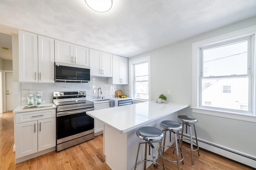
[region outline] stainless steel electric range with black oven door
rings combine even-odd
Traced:
[[[86,100],[85,91],[53,92],[56,105],[57,152],[94,139],[94,119],[86,111],[94,110],[94,103]]]

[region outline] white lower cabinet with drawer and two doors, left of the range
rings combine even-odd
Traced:
[[[50,118],[48,118],[50,117]],[[31,154],[56,146],[56,110],[22,112],[15,115],[16,163],[31,159]],[[43,152],[43,154],[45,154]],[[26,156],[28,156],[26,158]],[[21,158],[17,161],[17,159]]]

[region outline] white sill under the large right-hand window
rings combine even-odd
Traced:
[[[218,110],[198,108],[198,107],[192,107],[192,111],[194,113],[200,113],[200,114],[205,114],[205,115],[212,115],[212,116],[218,116],[218,117],[226,117],[226,118],[230,118],[230,119],[256,122],[255,115],[234,113],[234,112],[228,112],[228,111],[218,111]]]

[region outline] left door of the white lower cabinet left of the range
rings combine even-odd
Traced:
[[[15,124],[16,159],[37,152],[37,121]]]

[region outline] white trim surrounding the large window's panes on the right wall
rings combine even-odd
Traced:
[[[254,77],[252,77],[252,81],[254,84],[254,94],[252,94],[252,103],[253,103],[253,108],[252,108],[252,115],[248,115],[248,114],[243,114],[243,113],[237,113],[237,112],[232,112],[232,111],[222,111],[222,110],[215,110],[215,109],[207,109],[207,108],[201,108],[199,107],[200,103],[199,103],[199,53],[200,53],[200,48],[211,45],[211,44],[215,44],[215,43],[219,43],[222,41],[227,41],[227,40],[232,40],[234,38],[238,38],[238,37],[246,37],[246,36],[250,36],[256,33],[256,25],[252,26],[252,27],[248,27],[245,29],[241,29],[238,31],[234,31],[232,33],[227,33],[224,35],[220,35],[218,37],[213,37],[210,39],[206,39],[203,41],[199,41],[196,43],[192,44],[192,111],[194,113],[201,113],[201,114],[206,114],[206,115],[214,115],[214,116],[219,116],[219,117],[226,117],[226,118],[231,118],[231,119],[238,119],[238,120],[244,120],[244,121],[251,121],[251,122],[256,122],[256,62],[254,61],[256,59],[255,57],[255,51],[253,52],[253,57],[252,57],[252,64],[254,64],[253,68],[254,70],[251,70]],[[256,38],[255,38],[256,39]],[[252,49],[255,49],[255,40],[254,39],[254,47],[252,47]]]

